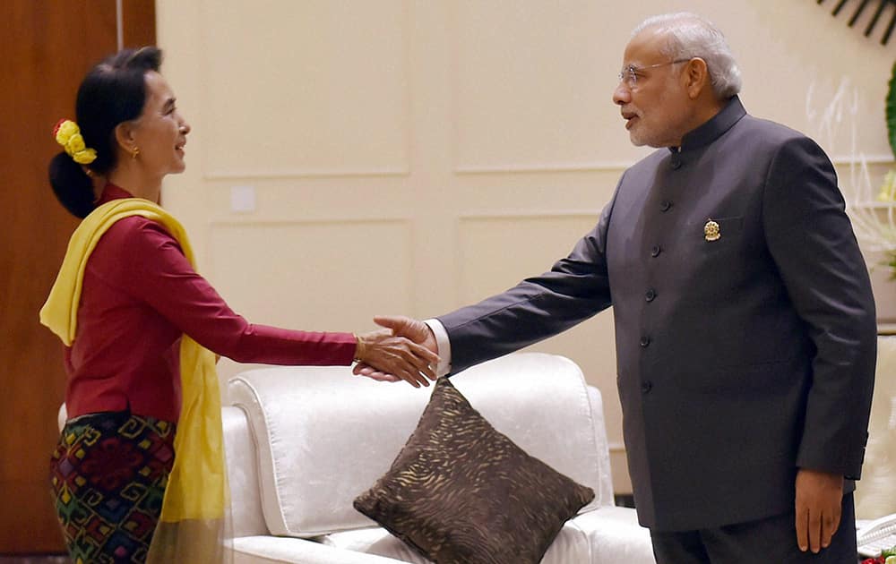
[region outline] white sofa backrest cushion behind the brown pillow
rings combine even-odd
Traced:
[[[607,444],[595,432],[602,424],[592,421],[576,364],[556,355],[507,355],[453,376],[452,383],[521,449],[578,483],[608,491]],[[374,526],[352,500],[389,469],[431,389],[359,378],[349,367],[264,368],[232,378],[229,400],[248,417],[271,534]],[[587,508],[611,503],[607,494]]]

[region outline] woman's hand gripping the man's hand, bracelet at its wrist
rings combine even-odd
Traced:
[[[369,376],[374,380],[405,380],[414,388],[428,386],[429,380],[435,380],[439,363],[438,355],[426,346],[392,335],[390,329],[358,335],[355,359],[381,372]]]

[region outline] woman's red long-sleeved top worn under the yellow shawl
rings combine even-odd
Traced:
[[[99,204],[131,194],[108,184]],[[65,348],[69,417],[120,411],[177,421],[180,337],[241,363],[348,365],[351,333],[249,323],[186,260],[164,226],[140,216],[111,226],[84,272],[78,326]]]

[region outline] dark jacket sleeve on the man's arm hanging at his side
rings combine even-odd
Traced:
[[[782,143],[771,161],[762,218],[772,259],[815,349],[797,466],[857,479],[874,389],[874,295],[837,175],[814,141]]]

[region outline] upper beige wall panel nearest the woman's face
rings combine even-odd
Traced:
[[[407,172],[407,2],[202,8],[208,177]]]

